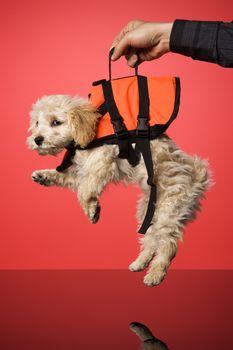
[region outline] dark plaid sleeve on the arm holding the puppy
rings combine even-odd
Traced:
[[[233,22],[176,20],[170,37],[170,51],[233,67]]]

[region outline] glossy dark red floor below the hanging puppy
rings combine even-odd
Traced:
[[[0,271],[0,348],[233,349],[233,271],[168,275],[151,288],[129,271]]]

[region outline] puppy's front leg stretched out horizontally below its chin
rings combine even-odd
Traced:
[[[71,172],[60,173],[56,169],[36,170],[32,173],[32,180],[43,186],[73,186],[73,176]]]

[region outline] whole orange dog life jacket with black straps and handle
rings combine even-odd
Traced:
[[[145,234],[154,215],[156,186],[150,140],[159,137],[176,118],[180,103],[180,80],[177,77],[145,77],[138,74],[118,79],[111,78],[109,54],[109,79],[93,82],[90,102],[102,115],[96,137],[85,148],[71,143],[57,171],[72,164],[75,150],[91,149],[104,144],[118,144],[119,158],[127,159],[135,167],[142,154],[147,169],[147,183],[151,187],[147,212],[139,233]],[[135,147],[132,146],[135,144]]]

